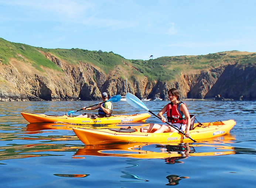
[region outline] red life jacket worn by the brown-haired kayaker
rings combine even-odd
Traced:
[[[181,124],[187,124],[187,120],[185,118],[185,115],[180,110],[180,104],[182,102],[179,102],[177,104],[169,103],[167,105],[167,120],[171,123],[181,123]],[[185,104],[185,103],[183,103]]]

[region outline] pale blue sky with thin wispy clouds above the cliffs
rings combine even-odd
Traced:
[[[0,0],[0,38],[142,60],[256,52],[256,1]]]

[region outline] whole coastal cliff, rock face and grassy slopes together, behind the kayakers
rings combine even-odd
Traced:
[[[30,48],[22,44],[17,46],[23,46],[21,50]],[[11,48],[14,49],[13,46],[8,47],[12,50]],[[212,59],[207,60],[211,66],[198,69],[187,68],[190,65],[187,63],[189,56],[175,57],[175,61],[178,59],[184,64],[178,66],[180,72],[170,70],[168,73],[165,68],[165,73],[172,77],[171,80],[147,77],[149,73],[145,74],[145,70],[136,67],[132,60],[125,60],[113,53],[104,53],[108,56],[106,59],[118,59],[112,60],[112,64],[110,62],[104,65],[102,60],[105,57],[101,54],[102,52],[95,53],[97,58],[99,57],[98,61],[93,57],[91,61],[77,60],[74,62],[56,52],[40,48],[35,48],[33,51],[33,54],[38,53],[37,56],[26,56],[25,52],[13,51],[13,54],[7,58],[3,51],[0,53],[0,101],[99,100],[100,93],[103,91],[109,93],[110,96],[125,95],[126,78],[128,78],[127,91],[140,99],[160,97],[167,100],[168,89],[174,87],[180,90],[183,98],[206,99],[220,95],[235,100],[256,99],[255,53],[243,53],[243,61],[234,58],[233,61],[221,60],[222,63],[217,62],[216,56],[213,56]],[[240,52],[235,51],[235,53]],[[223,54],[219,56],[218,58],[228,57]],[[43,63],[37,64],[41,59]],[[174,61],[174,57],[167,59]],[[245,63],[244,59],[248,62]],[[212,65],[213,61],[216,61],[214,65]],[[150,60],[142,62],[149,64]],[[157,60],[152,62],[157,62]],[[141,65],[140,62],[137,64]],[[151,69],[154,68],[151,67]],[[178,73],[174,75],[172,72]]]

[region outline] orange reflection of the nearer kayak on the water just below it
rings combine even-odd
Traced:
[[[233,137],[227,136],[227,142]],[[223,141],[223,136],[217,140],[208,140],[204,143],[109,143],[101,145],[85,145],[78,149],[73,158],[85,158],[83,156],[115,156],[132,157],[139,159],[164,159],[167,163],[178,163],[179,159],[188,156],[218,156],[235,154],[233,147],[228,145],[216,145]],[[227,143],[226,142],[226,143]],[[200,152],[200,147],[208,147],[209,152]],[[198,150],[196,152],[196,150]],[[214,150],[214,151],[212,151]],[[205,151],[205,149],[204,149]]]

